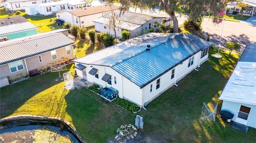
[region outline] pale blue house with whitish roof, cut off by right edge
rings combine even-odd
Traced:
[[[256,43],[246,45],[219,99],[234,122],[256,128]]]

